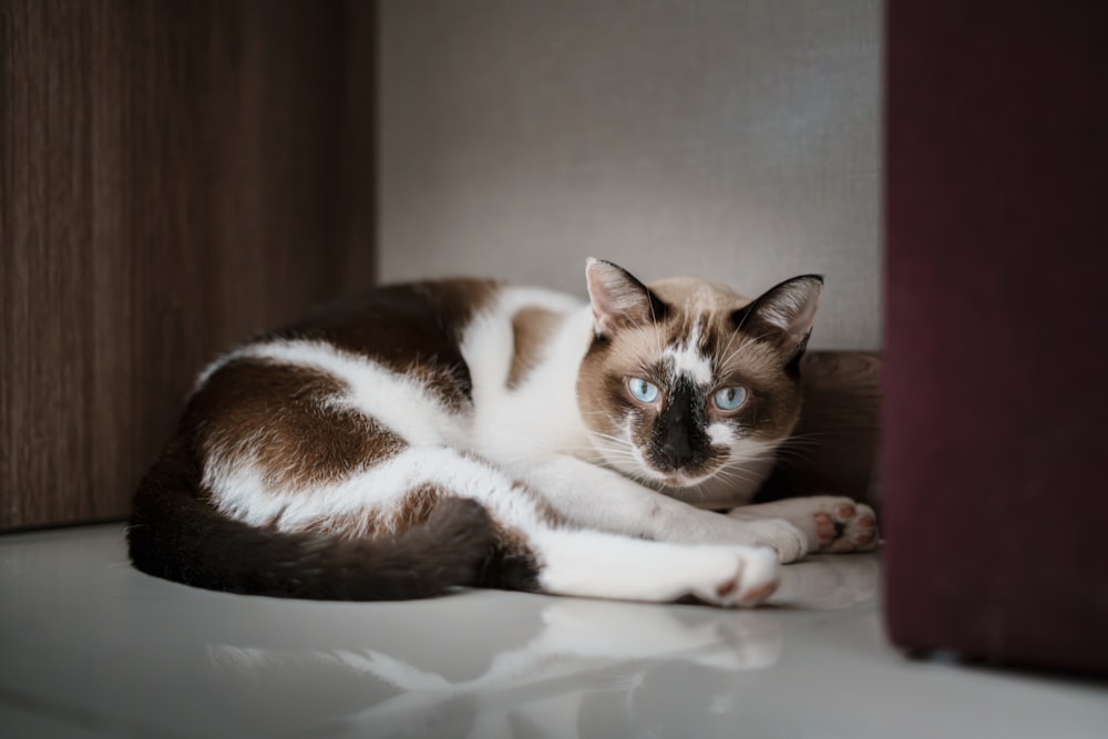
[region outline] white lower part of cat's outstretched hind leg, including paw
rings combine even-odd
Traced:
[[[686,596],[718,606],[752,606],[778,586],[766,547],[652,542],[597,531],[553,528],[529,546],[540,563],[538,589],[619,601],[671,603]]]

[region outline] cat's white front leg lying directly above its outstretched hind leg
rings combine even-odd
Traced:
[[[514,470],[566,520],[584,528],[684,544],[765,546],[780,562],[809,551],[808,535],[782,519],[736,519],[701,511],[623,475],[571,456]]]

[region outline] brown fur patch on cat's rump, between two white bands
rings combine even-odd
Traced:
[[[209,463],[253,461],[273,487],[337,482],[402,451],[404,441],[335,401],[346,390],[330,374],[242,359],[208,378],[189,402]]]

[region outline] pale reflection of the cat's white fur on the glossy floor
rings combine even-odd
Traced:
[[[488,669],[463,680],[443,675],[451,667],[449,650],[444,669],[437,671],[408,659],[404,643],[299,655],[217,645],[209,647],[209,657],[232,682],[255,689],[293,675],[318,685],[321,671],[331,673],[331,682],[368,678],[392,688],[390,697],[342,720],[353,733],[372,728],[382,737],[484,738],[517,736],[520,727],[532,727],[536,736],[574,737],[582,736],[574,727],[586,705],[620,714],[622,725],[632,720],[634,706],[649,705],[642,694],[657,682],[653,673],[658,669],[684,671],[685,681],[694,682],[689,689],[702,696],[702,708],[718,710],[727,700],[718,691],[720,674],[777,661],[781,635],[772,615],[719,616],[704,607],[551,598],[531,639],[492,656]],[[449,636],[437,638],[465,639],[473,628],[484,626],[455,623],[444,627]],[[425,636],[409,635],[414,640]],[[380,689],[370,692],[381,695]]]

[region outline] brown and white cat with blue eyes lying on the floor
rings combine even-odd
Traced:
[[[797,422],[821,278],[756,300],[595,259],[586,278],[587,304],[381,287],[223,356],[135,495],[134,565],[286,597],[733,606],[779,561],[875,545],[848,499],[737,507]]]

